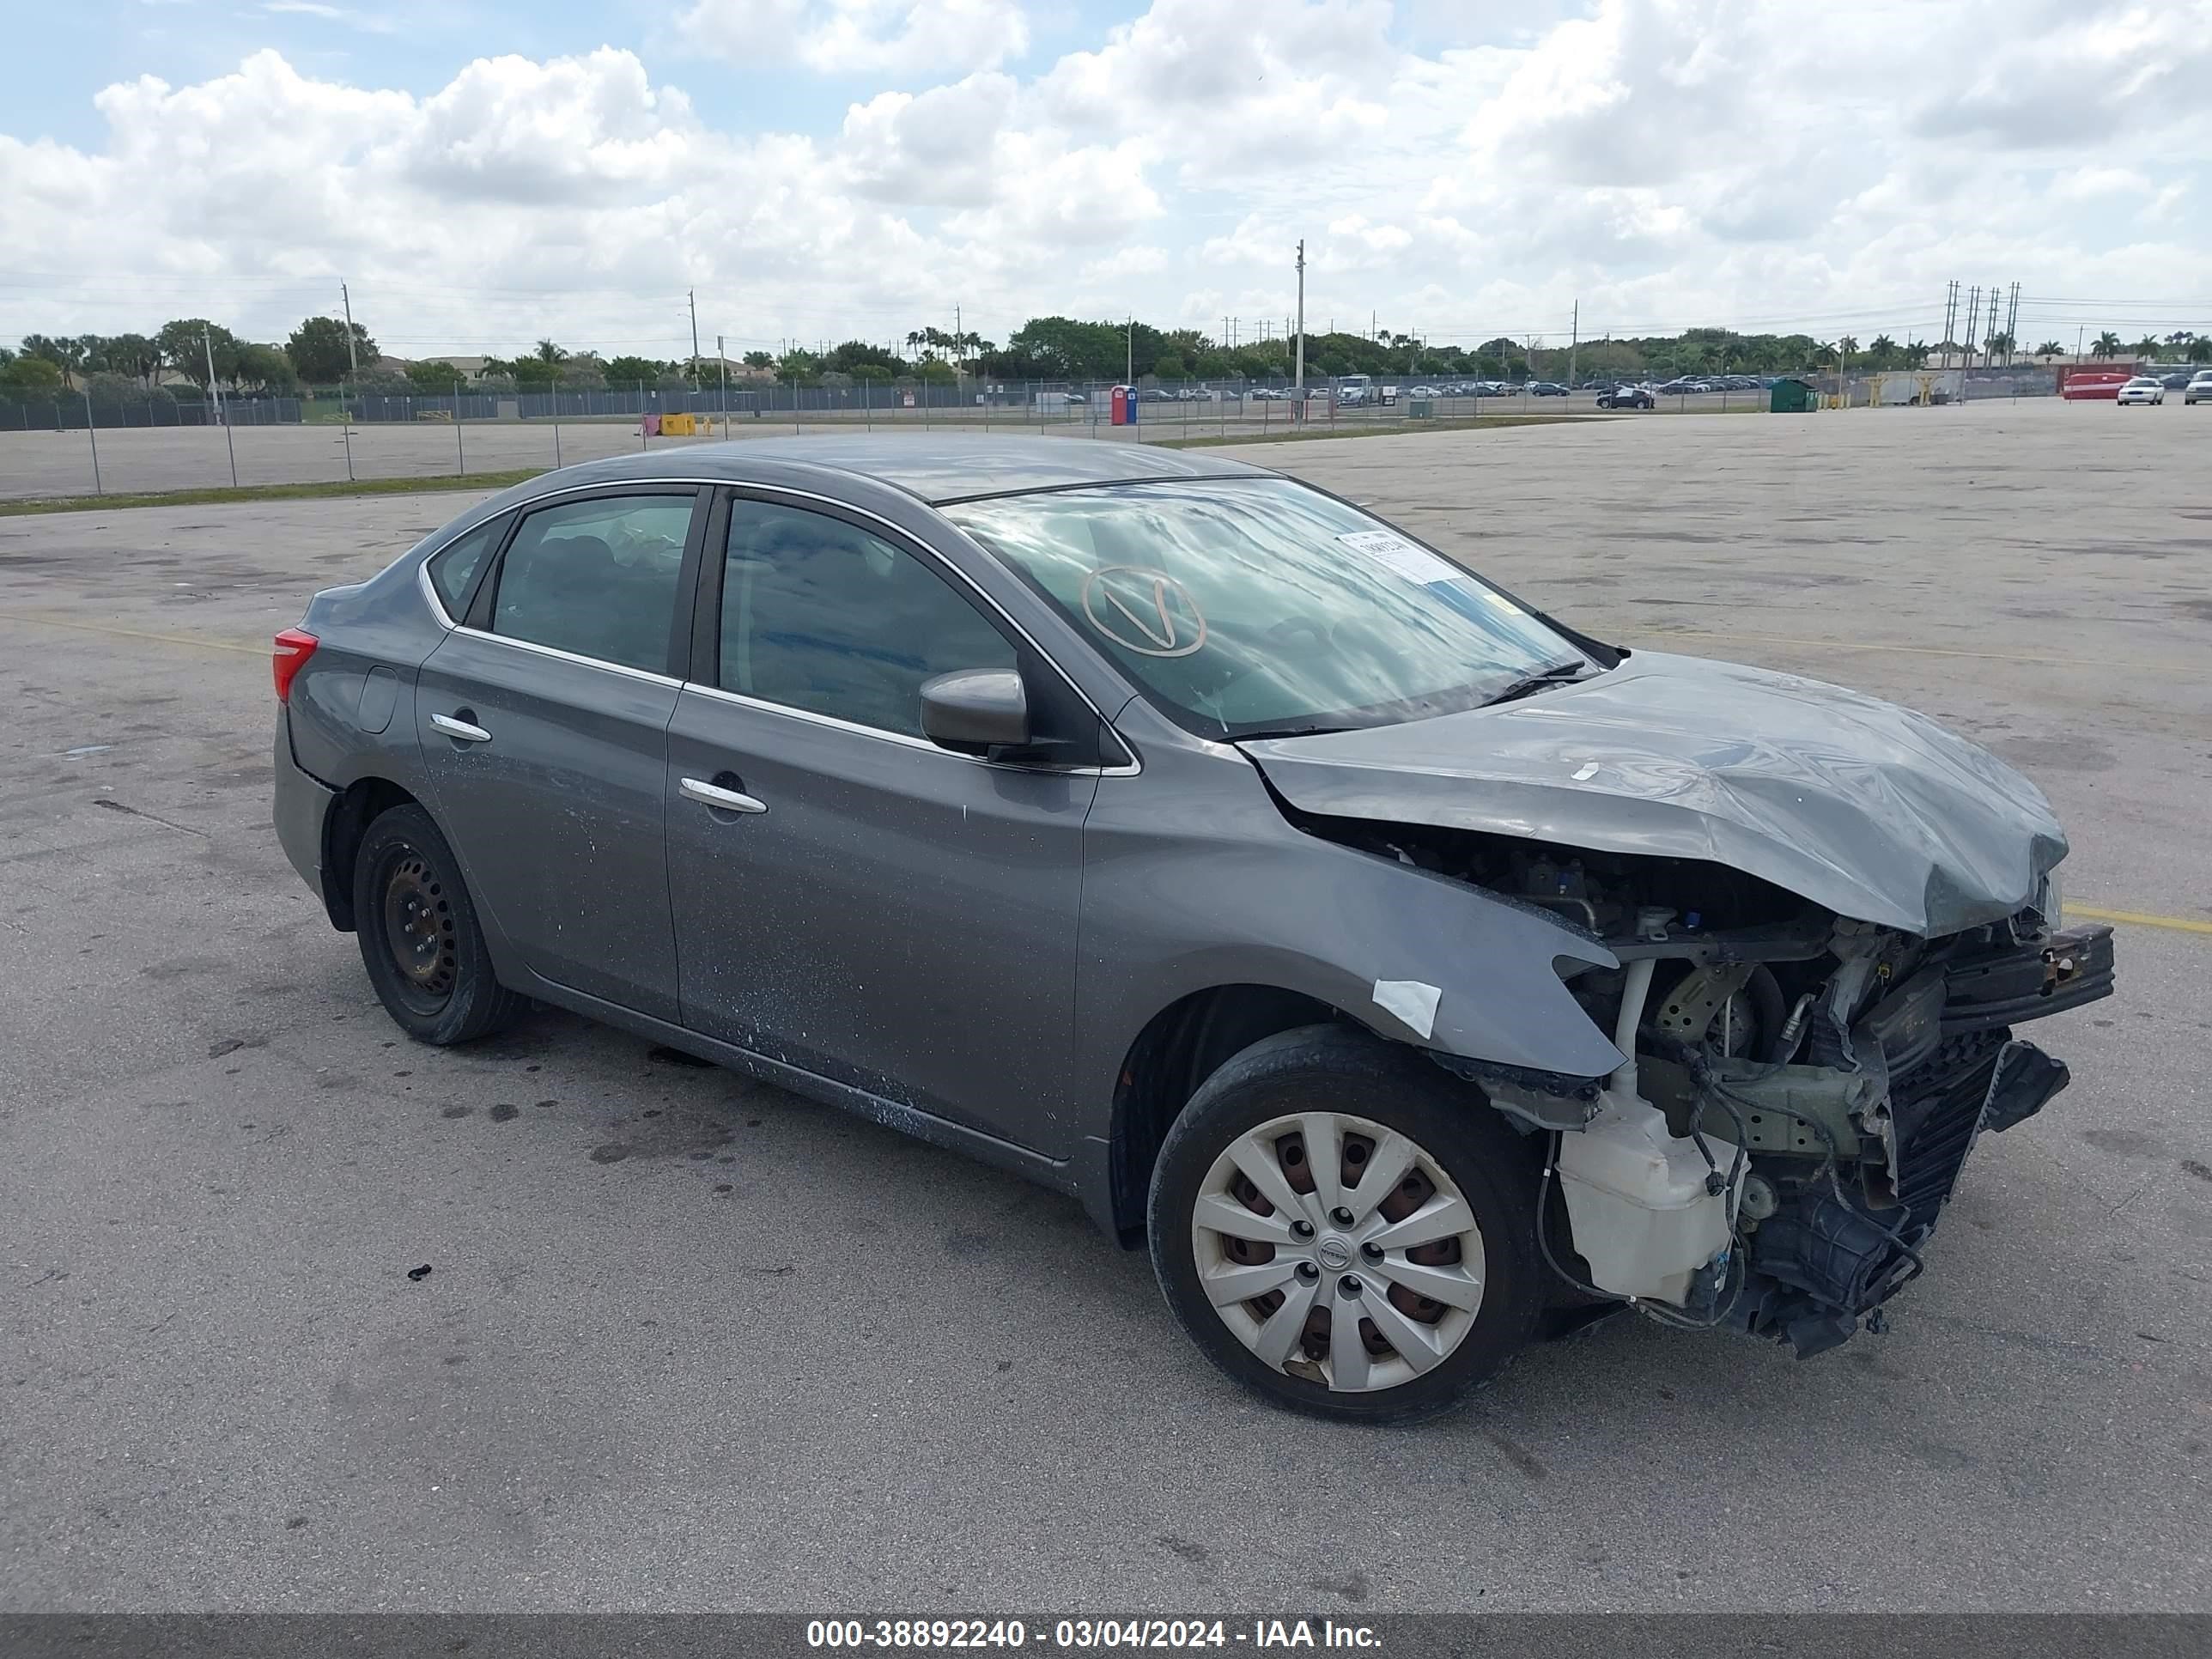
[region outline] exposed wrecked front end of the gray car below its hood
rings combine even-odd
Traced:
[[[1438,1060],[1551,1139],[1540,1243],[1559,1279],[1801,1358],[1878,1325],[1975,1139],[2066,1086],[2013,1026],[2112,991],[2110,929],[2064,929],[2051,880],[2004,920],[1918,938],[1690,858],[1307,827],[1542,907],[1613,951],[1617,969],[1559,964],[1628,1057],[1613,1075]]]

